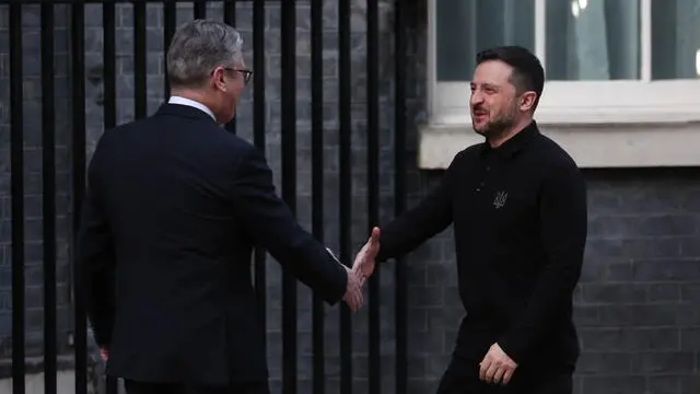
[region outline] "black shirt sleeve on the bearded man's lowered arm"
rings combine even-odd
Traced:
[[[565,316],[581,276],[587,232],[586,190],[574,165],[558,165],[539,197],[540,239],[546,260],[522,316],[499,340],[515,362],[540,343],[555,320]]]

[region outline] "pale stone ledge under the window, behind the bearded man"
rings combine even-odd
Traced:
[[[700,123],[539,126],[582,169],[700,165]],[[470,124],[429,124],[419,139],[423,170],[446,169],[455,154],[483,140]]]

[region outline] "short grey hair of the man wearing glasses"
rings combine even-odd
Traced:
[[[195,20],[175,32],[167,49],[167,79],[174,88],[201,88],[218,66],[243,61],[243,38],[221,22]]]

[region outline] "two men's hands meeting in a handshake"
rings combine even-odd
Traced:
[[[348,287],[342,300],[353,312],[357,312],[362,306],[362,286],[365,279],[374,273],[374,266],[376,265],[375,258],[378,252],[380,228],[373,228],[370,239],[354,256],[352,269],[346,267],[348,271]]]

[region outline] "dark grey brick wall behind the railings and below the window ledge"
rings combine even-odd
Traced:
[[[311,45],[310,9],[300,1],[298,11],[298,212],[310,228],[311,212]],[[324,32],[324,127],[326,162],[326,243],[338,250],[338,20],[336,1],[325,7]],[[393,212],[393,10],[392,2],[381,2],[382,73],[382,216]],[[353,245],[359,247],[368,229],[366,208],[366,74],[365,11],[363,1],[352,2],[352,181]],[[408,154],[409,206],[415,205],[440,179],[440,172],[420,171],[416,166],[417,131],[415,125],[425,120],[425,22],[419,16],[422,4],[408,8],[411,20],[407,62],[409,95]],[[57,11],[59,9],[57,8]],[[162,101],[163,62],[161,7],[149,5],[148,88],[149,113]],[[86,60],[90,76],[100,76],[102,65],[102,12],[89,5],[85,23]],[[252,57],[252,7],[237,5],[237,28],[243,33]],[[9,163],[9,43],[8,9],[0,7],[0,351],[10,356],[10,163]],[[208,15],[222,19],[220,5],[211,4]],[[191,7],[183,7],[178,20],[192,18]],[[57,95],[67,97],[69,16],[58,12],[55,58]],[[40,234],[40,80],[38,78],[38,8],[26,7],[24,14],[25,54],[25,154],[27,207],[27,349],[40,355],[42,339],[42,234]],[[133,114],[132,15],[129,5],[118,7],[117,14],[117,95],[118,121]],[[267,119],[266,153],[280,175],[280,13],[278,4],[268,5],[266,15]],[[75,77],[73,77],[75,78]],[[80,76],[79,78],[84,78]],[[62,88],[59,88],[62,86]],[[88,82],[89,152],[103,131],[101,81]],[[240,108],[238,134],[252,139],[252,92]],[[70,135],[65,115],[68,100],[58,100],[59,126],[57,150],[59,163],[59,316],[61,340],[67,346],[70,329],[69,266],[67,240],[69,221],[69,159],[66,141]],[[466,130],[465,132],[468,132]],[[590,241],[583,277],[575,294],[576,322],[583,355],[579,363],[579,393],[695,393],[700,390],[700,182],[697,170],[602,170],[586,171],[590,188]],[[409,389],[411,393],[430,393],[446,367],[455,333],[464,314],[455,282],[454,245],[451,231],[436,236],[416,251],[406,262],[409,270]],[[268,264],[269,360],[273,392],[281,378],[281,281],[278,265]],[[394,263],[382,271],[382,374],[383,385],[393,392],[394,381]],[[311,385],[311,293],[299,288],[300,392]],[[326,369],[329,392],[337,392],[339,381],[338,309],[327,309]],[[353,317],[354,392],[366,387],[368,316],[366,309]]]

